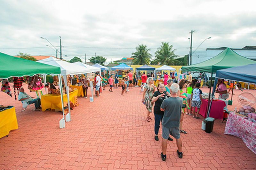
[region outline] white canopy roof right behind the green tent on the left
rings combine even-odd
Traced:
[[[74,74],[84,74],[88,73],[88,69],[85,67],[77,65],[74,67],[73,64],[62,61],[60,59],[49,57],[43,60],[37,61],[38,63],[44,63],[56,67],[60,67],[61,75],[74,75]]]

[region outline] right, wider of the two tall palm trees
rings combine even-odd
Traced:
[[[162,42],[160,48],[155,52],[156,59],[153,61],[154,64],[160,65],[175,65],[178,60],[175,58],[179,57],[179,55],[175,55],[175,49],[172,49],[172,45],[169,45],[169,42]]]

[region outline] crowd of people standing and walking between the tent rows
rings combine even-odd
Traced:
[[[129,89],[138,87],[138,79],[141,79],[140,94],[142,93],[142,103],[147,109],[146,121],[152,121],[150,114],[154,113],[155,119],[155,137],[156,141],[159,140],[158,132],[160,123],[162,122],[162,153],[161,158],[163,161],[166,160],[166,148],[167,140],[172,141],[170,137],[176,139],[178,147],[177,154],[179,158],[182,158],[182,144],[180,139],[180,133],[187,134],[188,132],[183,129],[182,124],[184,120],[184,114],[192,115],[193,118],[199,119],[199,111],[202,105],[202,90],[200,89],[201,84],[197,79],[192,79],[192,75],[188,73],[188,79],[181,79],[179,83],[174,83],[172,76],[168,75],[167,72],[163,74],[164,81],[159,82],[156,86],[154,85],[154,75],[146,75],[145,72],[137,75],[129,70],[127,71],[121,80],[116,72],[115,77],[111,75],[107,80],[105,76],[100,77],[99,73],[95,76],[95,89],[96,96],[99,97],[100,82],[102,82],[103,90],[107,83],[109,83],[109,92],[113,92],[120,85],[122,87],[121,95],[129,92]],[[219,98],[227,99],[228,92],[226,85],[223,83],[224,80],[219,79],[216,93],[219,93]],[[87,93],[85,80],[83,80],[83,88]],[[85,95],[86,96],[86,95]],[[153,109],[152,109],[153,107]],[[197,111],[195,111],[197,108]]]

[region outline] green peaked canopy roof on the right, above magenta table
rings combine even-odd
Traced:
[[[216,73],[217,70],[243,66],[251,63],[256,63],[256,61],[238,55],[232,49],[226,48],[220,54],[209,60],[190,66],[183,66],[182,71],[202,71],[208,73]]]

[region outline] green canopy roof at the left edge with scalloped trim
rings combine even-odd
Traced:
[[[0,78],[60,74],[60,67],[37,63],[0,52]]]

